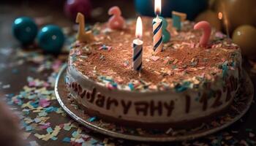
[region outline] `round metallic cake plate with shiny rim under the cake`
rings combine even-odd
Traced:
[[[118,126],[114,123],[106,123],[103,120],[90,117],[85,114],[83,110],[80,110],[78,104],[75,103],[65,85],[65,74],[67,65],[64,65],[56,79],[55,94],[59,101],[59,104],[67,114],[78,121],[78,123],[90,128],[93,131],[97,131],[101,134],[108,135],[110,137],[116,137],[121,139],[129,139],[135,141],[145,142],[171,142],[171,141],[183,141],[191,140],[199,137],[204,137],[208,134],[220,131],[227,126],[235,123],[239,120],[252,103],[254,88],[249,75],[244,71],[244,79],[242,82],[241,90],[239,89],[236,97],[231,104],[229,110],[225,115],[219,116],[211,123],[202,123],[201,126],[180,129],[174,131],[172,128],[166,130],[152,130],[143,128],[130,128],[125,126]]]

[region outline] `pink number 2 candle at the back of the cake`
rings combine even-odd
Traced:
[[[108,27],[111,29],[122,29],[124,28],[124,18],[121,17],[121,9],[117,6],[111,7],[108,10],[108,15],[113,15],[108,20]]]

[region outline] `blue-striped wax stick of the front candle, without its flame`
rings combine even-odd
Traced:
[[[133,51],[132,51],[132,68],[134,71],[139,72],[142,68],[143,58],[143,41],[140,39],[133,40]]]

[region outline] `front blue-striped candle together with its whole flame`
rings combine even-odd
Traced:
[[[136,23],[136,37],[137,39],[133,40],[133,51],[132,51],[132,68],[135,71],[140,71],[142,68],[142,58],[143,58],[143,41],[142,34],[142,20],[140,17],[137,19]]]

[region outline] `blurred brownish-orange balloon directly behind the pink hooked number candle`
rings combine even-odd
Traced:
[[[195,18],[195,22],[200,22],[202,20],[206,20],[213,28],[216,28],[217,31],[222,30],[222,23],[221,20],[218,19],[217,12],[208,9]]]

